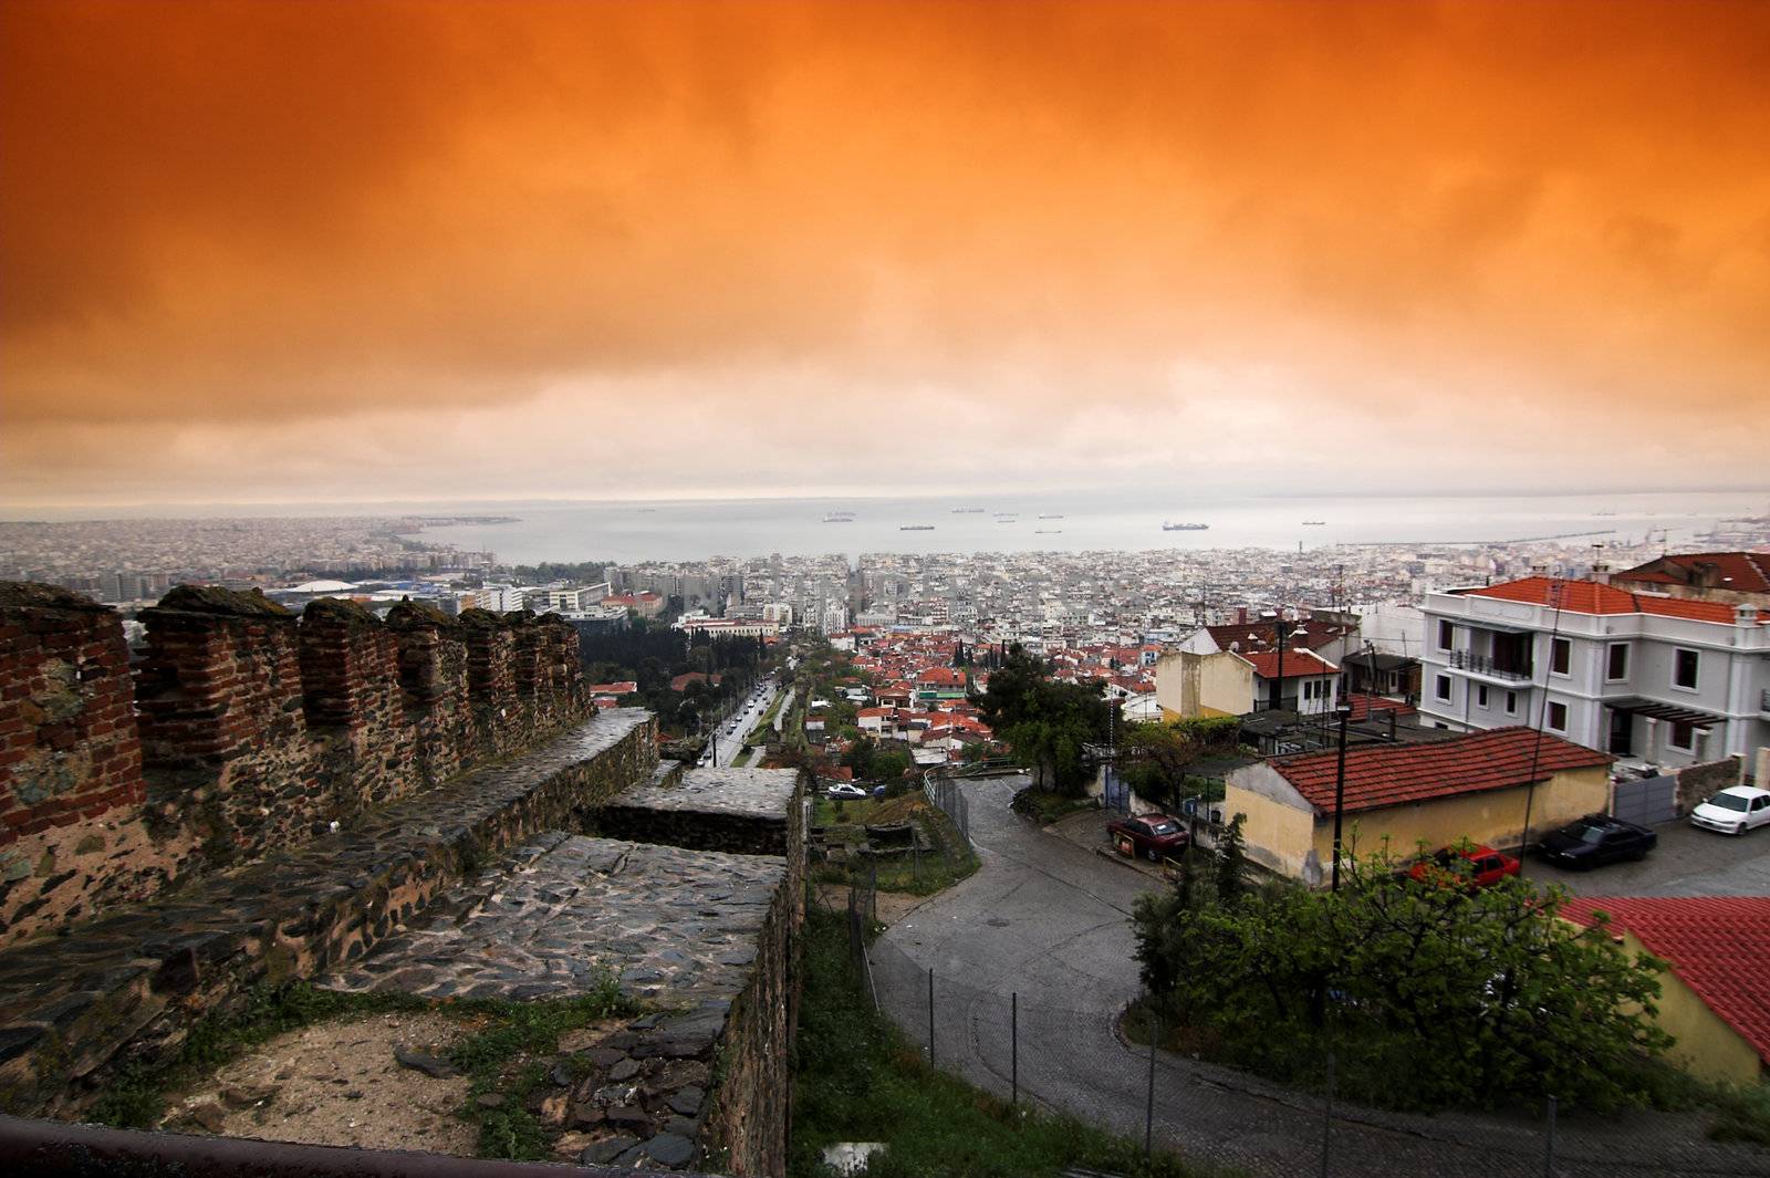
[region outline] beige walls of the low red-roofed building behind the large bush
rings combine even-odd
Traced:
[[[1306,884],[1320,884],[1333,861],[1333,814],[1315,814],[1276,769],[1253,764],[1228,776],[1225,815],[1246,814],[1243,833],[1248,856]],[[1388,840],[1389,854],[1412,858],[1423,842],[1428,849],[1458,838],[1494,847],[1517,847],[1524,830],[1528,791],[1490,789],[1414,805],[1358,810],[1345,815],[1343,838],[1349,851],[1370,854]],[[1531,831],[1572,822],[1609,803],[1609,776],[1604,766],[1556,773],[1536,787],[1531,803]],[[1301,819],[1301,821],[1299,821]]]

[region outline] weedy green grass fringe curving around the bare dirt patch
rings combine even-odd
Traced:
[[[228,1014],[196,1022],[177,1054],[158,1063],[131,1063],[106,1086],[92,1118],[117,1128],[152,1128],[166,1111],[168,1093],[186,1088],[278,1035],[315,1022],[361,1019],[389,1012],[432,1012],[458,1019],[471,1033],[448,1049],[450,1063],[467,1075],[467,1102],[460,1116],[480,1123],[480,1157],[540,1160],[550,1134],[529,1113],[531,1093],[547,1081],[554,1061],[542,1063],[566,1031],[602,1019],[639,1014],[639,1005],[605,978],[589,994],[552,1001],[503,999],[432,1001],[412,994],[342,994],[306,982],[258,985]],[[579,1067],[577,1056],[563,1059]],[[496,1093],[499,1107],[480,1107]]]

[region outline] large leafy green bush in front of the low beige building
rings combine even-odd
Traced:
[[[1559,890],[1395,868],[1356,860],[1336,893],[1273,886],[1225,902],[1220,876],[1216,895],[1145,899],[1133,916],[1143,985],[1258,1072],[1315,1079],[1333,1049],[1354,1098],[1556,1095],[1611,1109],[1646,1097],[1637,1065],[1671,1042],[1651,1021],[1662,962],[1627,953],[1602,923],[1561,920]]]

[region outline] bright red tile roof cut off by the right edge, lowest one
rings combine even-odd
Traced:
[[[1582,925],[1609,913],[1770,1063],[1770,897],[1570,899]]]

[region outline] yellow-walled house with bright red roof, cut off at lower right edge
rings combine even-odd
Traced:
[[[1708,1081],[1756,1084],[1770,1068],[1770,897],[1574,899],[1568,920],[1611,930],[1630,952],[1671,964],[1657,1022],[1678,1042],[1671,1058]]]

